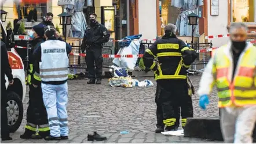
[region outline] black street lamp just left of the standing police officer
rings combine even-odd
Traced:
[[[58,17],[60,17],[60,25],[62,25],[62,27],[64,28],[64,36],[66,41],[67,25],[71,25],[72,14],[64,12],[64,13],[58,14]]]

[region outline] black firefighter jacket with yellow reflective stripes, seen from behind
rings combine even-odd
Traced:
[[[158,67],[154,59],[160,63]],[[175,36],[164,35],[145,50],[145,67],[155,71],[155,79],[186,79],[186,69],[196,59],[196,52]]]

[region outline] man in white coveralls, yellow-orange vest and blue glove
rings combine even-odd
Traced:
[[[206,109],[214,84],[218,90],[225,143],[253,143],[256,122],[256,47],[246,43],[247,26],[230,26],[229,43],[215,50],[200,81],[199,105]]]

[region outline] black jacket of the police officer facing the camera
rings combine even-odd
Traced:
[[[110,34],[104,25],[96,22],[95,25],[87,26],[85,30],[85,36],[83,36],[83,42],[81,45],[82,51],[85,51],[87,46],[94,46],[102,48],[102,44],[107,43]]]

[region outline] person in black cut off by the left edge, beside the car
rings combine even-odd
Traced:
[[[8,52],[6,50],[6,45],[1,40],[1,138],[2,141],[10,141],[10,131],[8,128],[8,117],[7,117],[7,90],[5,75],[8,77],[9,85],[13,85],[13,75],[12,69],[9,65]]]

